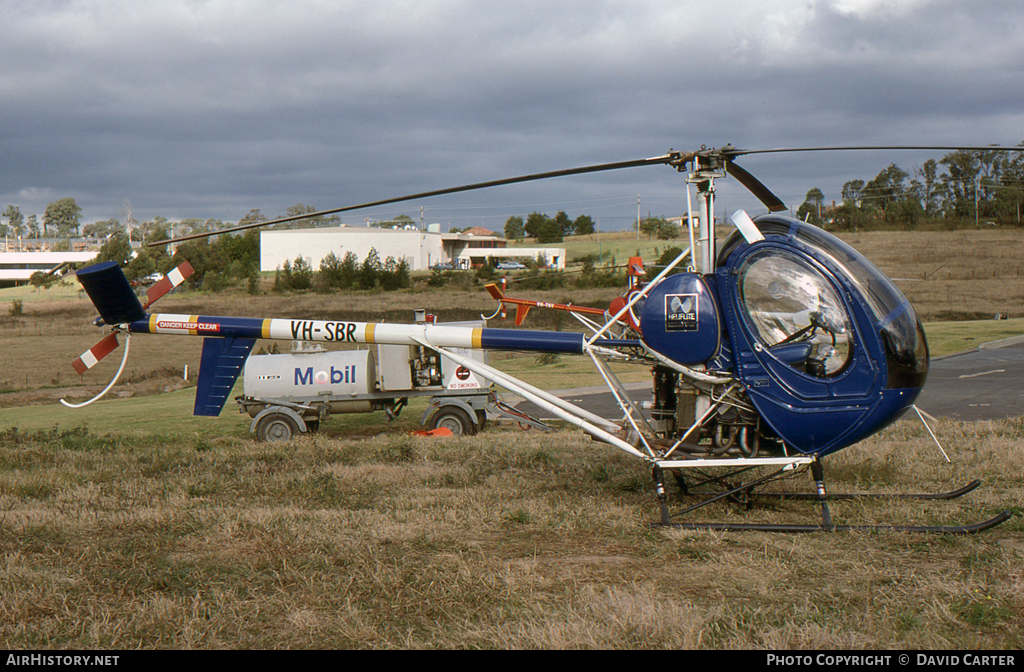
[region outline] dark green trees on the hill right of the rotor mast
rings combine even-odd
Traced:
[[[835,208],[814,187],[797,211],[801,219],[840,229],[989,220],[1020,225],[1022,215],[1024,153],[988,150],[951,152],[912,173],[890,164],[870,180],[846,182]]]

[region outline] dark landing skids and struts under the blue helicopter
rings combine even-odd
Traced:
[[[664,464],[664,463],[663,463]],[[660,520],[651,523],[653,528],[671,528],[674,530],[712,530],[717,532],[784,532],[784,533],[806,533],[806,532],[910,532],[930,533],[946,535],[973,535],[979,532],[990,530],[1011,517],[1013,513],[1002,511],[998,515],[987,520],[975,523],[956,526],[909,526],[909,524],[835,524],[831,519],[831,512],[828,509],[829,501],[855,500],[855,499],[916,499],[916,500],[951,500],[963,497],[967,493],[975,490],[981,485],[980,480],[972,480],[967,486],[957,490],[935,494],[909,494],[909,495],[885,495],[885,494],[863,494],[863,495],[829,495],[824,486],[824,472],[819,460],[810,461],[811,473],[815,481],[816,493],[779,493],[765,494],[759,493],[759,497],[771,497],[773,499],[795,499],[813,500],[821,504],[821,522],[818,524],[786,524],[786,523],[745,523],[745,522],[676,522],[673,517],[679,517],[708,506],[721,499],[736,499],[741,496],[748,502],[754,488],[767,484],[775,478],[779,478],[786,471],[793,469],[793,465],[783,466],[781,469],[773,471],[765,476],[741,484],[725,492],[709,497],[703,501],[690,507],[678,511],[675,514],[669,512],[668,498],[665,494],[664,470],[662,466],[655,466],[653,471],[654,482],[658,495],[658,505],[660,508]]]

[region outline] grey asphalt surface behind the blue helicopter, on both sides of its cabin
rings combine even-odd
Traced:
[[[627,388],[637,402],[650,400],[650,383],[630,383]],[[605,387],[552,392],[602,417],[622,418]],[[520,402],[516,408],[536,418],[551,417],[528,402]],[[935,417],[956,420],[998,420],[1024,415],[1024,337],[932,360],[918,408]]]

